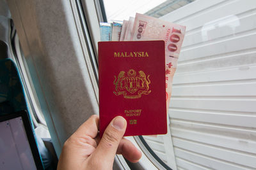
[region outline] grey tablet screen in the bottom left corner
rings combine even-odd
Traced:
[[[0,122],[0,169],[36,169],[22,117]]]

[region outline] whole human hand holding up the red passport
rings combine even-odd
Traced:
[[[93,115],[64,143],[57,169],[113,169],[116,153],[138,162],[141,152],[123,138],[126,126],[123,117],[115,117],[100,139],[99,116]]]

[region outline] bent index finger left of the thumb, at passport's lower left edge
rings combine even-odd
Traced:
[[[91,138],[96,138],[99,131],[99,116],[92,115],[86,122],[84,122],[74,135],[76,136],[90,136]]]

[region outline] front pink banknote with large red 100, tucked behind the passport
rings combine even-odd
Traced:
[[[169,106],[172,94],[173,74],[176,71],[180,48],[186,27],[166,22],[154,17],[136,13],[131,31],[131,41],[164,40],[165,42],[165,74],[166,74],[166,106]]]

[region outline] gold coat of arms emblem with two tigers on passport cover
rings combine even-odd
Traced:
[[[149,75],[147,76],[143,71],[138,71],[138,75],[134,69],[129,69],[127,76],[125,71],[120,71],[117,78],[114,80],[116,96],[124,95],[125,99],[138,99],[142,94],[148,95],[149,90]]]

